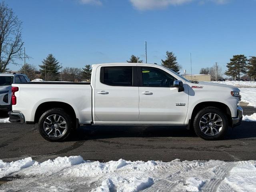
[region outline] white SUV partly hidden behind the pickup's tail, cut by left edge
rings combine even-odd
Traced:
[[[12,110],[12,84],[30,82],[24,74],[0,73],[0,110],[8,112]]]

